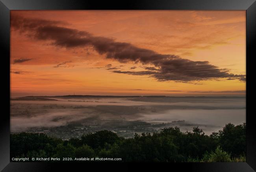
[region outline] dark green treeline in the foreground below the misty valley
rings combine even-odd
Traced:
[[[194,127],[181,132],[178,127],[125,139],[103,130],[63,141],[45,134],[11,134],[10,157],[109,157],[123,162],[244,162],[246,124],[226,124],[223,130],[205,135]],[[12,161],[12,160],[11,160]]]

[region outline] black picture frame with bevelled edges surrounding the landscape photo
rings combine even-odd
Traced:
[[[2,92],[5,103],[2,108],[0,125],[0,170],[3,171],[48,171],[60,167],[73,169],[74,163],[10,163],[10,10],[246,10],[246,123],[247,123],[247,155],[246,163],[161,163],[170,169],[211,172],[253,172],[256,170],[256,125],[254,124],[253,75],[249,64],[255,64],[254,46],[256,35],[256,2],[255,0],[129,0],[129,1],[99,1],[99,0],[0,0],[0,44],[2,48]],[[249,84],[250,83],[250,84]],[[8,88],[9,87],[9,88]],[[72,165],[71,165],[72,164]],[[144,164],[144,163],[143,163]],[[88,165],[88,164],[87,164]],[[80,163],[75,166],[83,166]],[[94,168],[112,168],[113,164],[97,165]],[[120,164],[119,164],[120,165]],[[123,163],[125,168],[132,165]],[[147,164],[147,167],[152,163]],[[155,165],[155,164],[154,164]],[[144,166],[145,167],[145,166]]]

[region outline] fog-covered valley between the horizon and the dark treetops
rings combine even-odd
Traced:
[[[39,96],[11,99],[11,132],[69,139],[111,130],[124,137],[179,126],[206,134],[245,122],[245,97]]]

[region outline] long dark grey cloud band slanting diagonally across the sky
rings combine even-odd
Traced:
[[[158,81],[202,81],[220,78],[245,81],[245,75],[235,75],[208,61],[192,61],[177,55],[159,54],[150,49],[138,48],[130,43],[117,42],[113,38],[96,37],[86,31],[59,26],[63,22],[11,16],[11,27],[26,31],[37,40],[48,40],[52,45],[64,48],[91,47],[100,55],[119,62],[141,62],[153,65],[157,71],[112,71],[129,75],[150,75]]]

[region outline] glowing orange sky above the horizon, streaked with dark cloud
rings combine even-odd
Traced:
[[[11,26],[12,96],[245,95],[246,82],[239,80],[246,74],[245,11],[11,11],[11,22],[20,18],[22,22]],[[76,35],[63,32],[62,38],[56,36],[62,34],[59,31],[39,30],[46,26],[71,29]],[[79,35],[80,31],[89,36]],[[63,43],[72,38],[81,42],[84,37],[93,42],[99,38],[108,47],[128,43],[124,49],[128,56],[120,60],[115,51],[115,57],[106,58],[107,53],[97,50],[102,46],[98,42]],[[164,62],[131,60],[139,57],[129,56],[130,52],[143,49]],[[165,55],[180,60],[168,66]],[[198,61],[208,63],[200,66]],[[147,67],[158,71],[136,74],[151,71]]]

